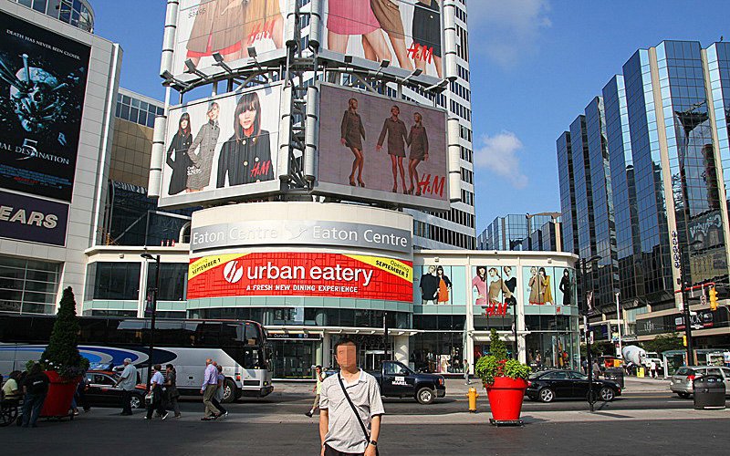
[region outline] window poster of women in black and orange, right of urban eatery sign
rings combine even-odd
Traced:
[[[424,264],[414,268],[413,304],[415,305],[466,305],[464,290],[466,268]]]

